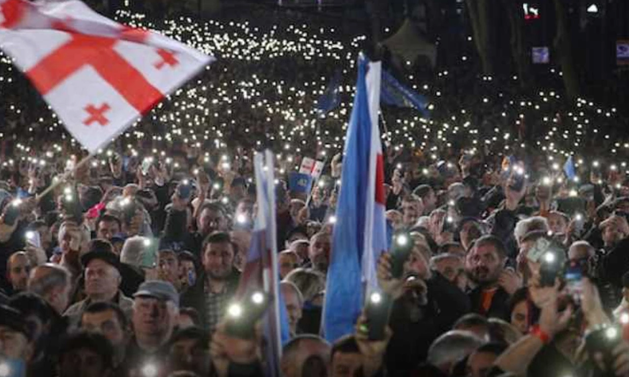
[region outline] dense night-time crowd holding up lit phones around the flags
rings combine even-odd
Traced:
[[[218,61],[87,163],[3,60],[0,376],[262,375],[259,332],[231,331],[226,311],[257,211],[252,150],[265,147],[277,153],[283,376],[629,374],[625,120],[559,89],[520,94],[517,77],[470,76],[471,44],[433,77],[387,67],[433,114],[382,108],[388,326],[370,338],[365,309],[355,334],[319,336],[365,35],[283,15],[120,11]],[[321,116],[335,70],[342,101]],[[304,157],[325,161],[305,192],[287,184]]]

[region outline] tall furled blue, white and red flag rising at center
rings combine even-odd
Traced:
[[[364,297],[378,289],[376,260],[387,250],[384,160],[378,128],[381,63],[359,57],[323,307],[323,336],[353,333]]]

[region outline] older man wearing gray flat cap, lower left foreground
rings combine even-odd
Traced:
[[[168,343],[179,315],[179,293],[167,281],[145,281],[133,297],[133,338],[123,363],[129,375],[138,373],[147,363],[165,368]]]

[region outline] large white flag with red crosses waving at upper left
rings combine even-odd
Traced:
[[[0,0],[0,48],[91,153],[214,60],[79,0]]]

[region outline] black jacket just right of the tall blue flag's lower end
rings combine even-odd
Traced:
[[[439,273],[426,281],[426,286],[427,305],[415,305],[406,296],[393,303],[389,319],[393,336],[385,354],[391,376],[406,376],[415,370],[426,359],[430,344],[470,310],[467,295]]]

